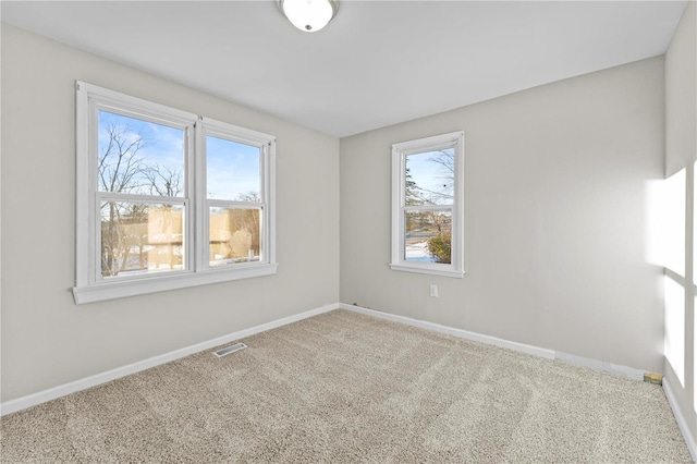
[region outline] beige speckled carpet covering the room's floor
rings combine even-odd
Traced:
[[[335,310],[2,418],[3,463],[689,463],[660,387]]]

